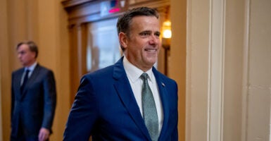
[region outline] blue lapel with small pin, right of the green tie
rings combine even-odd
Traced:
[[[165,135],[165,133],[167,132],[167,128],[168,128],[168,120],[169,120],[169,103],[168,103],[168,91],[167,91],[167,86],[165,85],[165,83],[163,82],[163,80],[160,77],[160,74],[158,73],[158,71],[156,70],[156,68],[153,68],[153,74],[156,77],[156,82],[158,85],[158,91],[160,94],[160,99],[163,105],[163,126],[160,132],[160,139],[163,139],[163,136]]]

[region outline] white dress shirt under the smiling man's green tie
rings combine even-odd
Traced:
[[[144,73],[144,71],[141,71],[139,68],[137,68],[132,63],[130,63],[125,56],[123,59],[123,66],[127,74],[128,80],[130,82],[130,85],[132,87],[132,91],[134,92],[134,97],[137,100],[137,105],[139,106],[141,116],[143,117],[142,102],[141,102],[142,101],[141,90],[142,90],[143,80],[141,80],[140,75]],[[156,78],[153,75],[152,69],[150,69],[149,71],[146,71],[145,73],[149,75],[148,83],[151,88],[151,92],[153,93],[154,102],[156,102],[156,109],[157,109],[158,121],[159,121],[159,133],[160,133],[160,130],[163,125],[163,106],[160,101],[158,86],[156,83]]]

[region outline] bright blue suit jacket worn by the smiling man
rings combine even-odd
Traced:
[[[75,96],[65,141],[151,140],[132,87],[120,59],[84,75]],[[163,104],[163,127],[159,140],[178,140],[177,83],[153,68]]]

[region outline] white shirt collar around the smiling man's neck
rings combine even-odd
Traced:
[[[130,78],[132,82],[135,82],[137,79],[139,79],[140,75],[144,73],[144,71],[141,71],[139,68],[130,63],[126,56],[124,56],[123,59],[123,66],[125,68],[125,72],[127,73],[127,77]],[[145,73],[149,75],[149,80],[152,81],[154,77],[152,69],[149,69]]]

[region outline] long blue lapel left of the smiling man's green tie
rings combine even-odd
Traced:
[[[118,92],[120,99],[122,100],[130,116],[132,117],[134,123],[136,123],[136,125],[141,130],[141,133],[143,133],[146,138],[150,139],[148,130],[141,116],[139,106],[137,105],[134,93],[132,92],[132,87],[130,86],[130,82],[125,73],[122,60],[123,57],[117,63],[115,63],[115,67],[113,70],[113,78],[115,79],[115,90]]]

